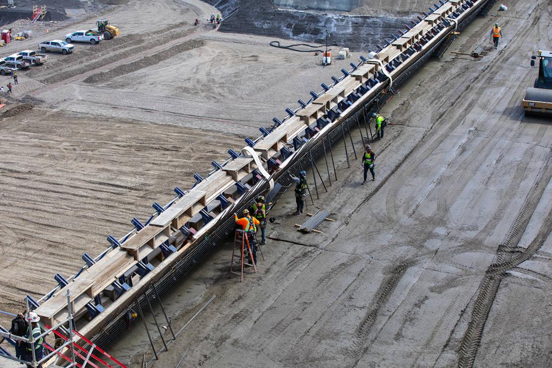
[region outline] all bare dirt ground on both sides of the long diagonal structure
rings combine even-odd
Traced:
[[[163,296],[175,329],[216,298],[153,366],[184,353],[191,367],[550,366],[552,128],[524,118],[520,102],[536,75],[530,55],[550,45],[552,8],[496,9],[449,50],[485,45],[486,56],[447,52],[385,105],[375,182],[360,185],[351,147],[351,168],[335,147],[338,180],[308,208],[337,220],[323,234],[295,231],[305,217],[290,215],[288,193],[258,274],[229,279],[227,244]],[[108,234],[122,236],[349,63],[321,67],[269,47],[273,37],[193,26],[213,12],[198,0],[131,0],[104,14],[118,38],[19,73],[7,102],[34,107],[0,117],[0,310],[49,291],[55,273],[71,275],[82,253],[103,250]],[[97,16],[37,28],[2,55]],[[139,321],[108,350],[132,367],[152,356]]]

